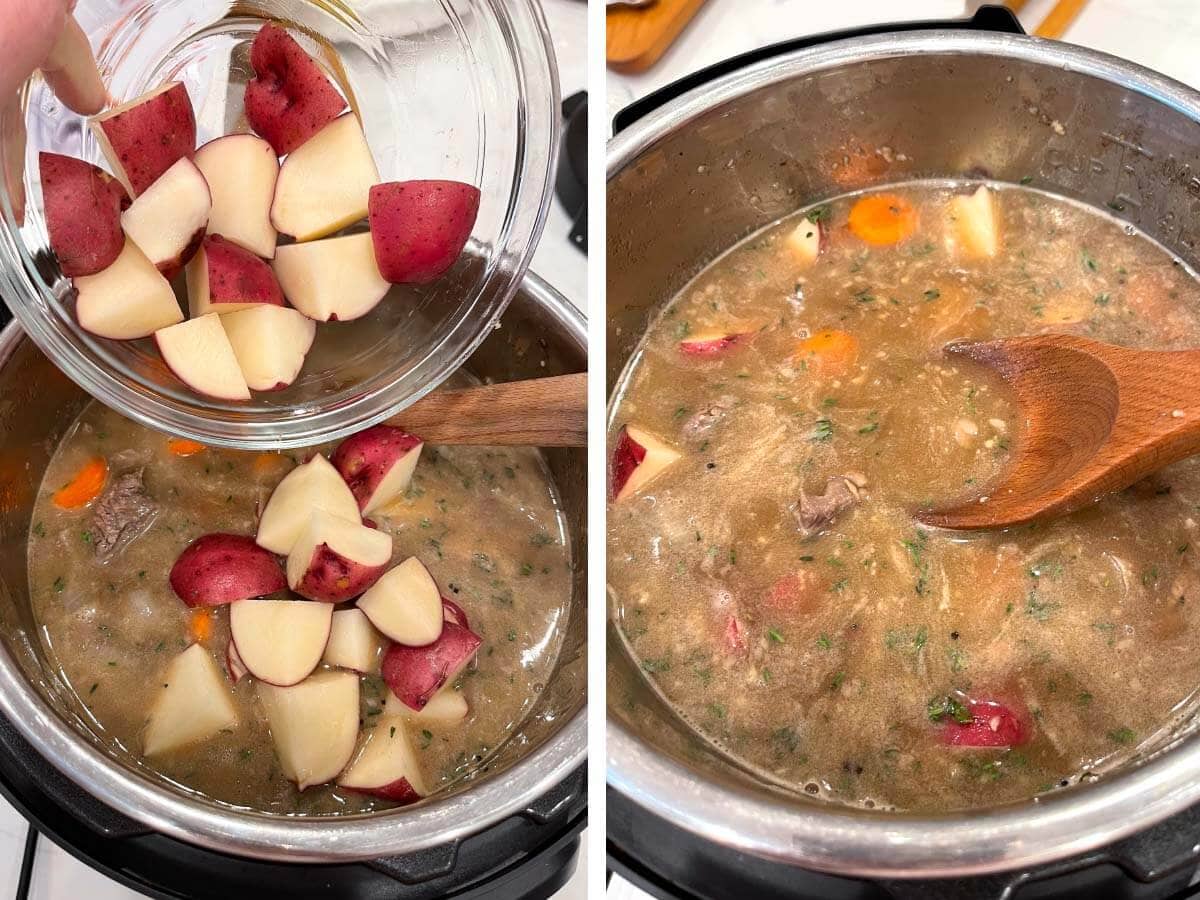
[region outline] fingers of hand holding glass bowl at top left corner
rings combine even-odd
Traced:
[[[59,100],[82,115],[104,108],[108,92],[91,46],[71,11],[76,0],[0,0],[0,103],[42,70]]]

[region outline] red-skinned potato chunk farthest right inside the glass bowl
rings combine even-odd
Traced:
[[[462,181],[390,181],[371,188],[367,217],[379,274],[392,284],[427,284],[470,238],[479,188]]]

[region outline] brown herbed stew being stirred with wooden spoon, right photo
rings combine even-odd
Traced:
[[[912,517],[986,496],[1020,440],[1002,386],[948,341],[1200,343],[1195,280],[1132,227],[996,186],[976,194],[988,256],[979,208],[954,199],[976,188],[900,185],[751,235],[667,305],[611,410],[618,457],[625,426],[667,446],[647,460],[679,454],[608,510],[613,617],[642,671],[725,752],[845,804],[961,809],[1094,778],[1200,684],[1200,461],[1007,533]]]

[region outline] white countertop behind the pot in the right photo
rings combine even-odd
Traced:
[[[1055,0],[1030,0],[1020,19],[1027,31],[1045,18]],[[972,8],[978,4],[972,4]],[[902,7],[902,14],[898,12]],[[608,72],[607,110],[612,115],[697,68],[756,47],[802,35],[899,19],[954,18],[964,0],[707,0],[674,44],[648,72]],[[1198,0],[1090,0],[1063,35],[1064,41],[1133,60],[1200,86],[1200,2]],[[613,877],[608,900],[649,900],[629,882]]]

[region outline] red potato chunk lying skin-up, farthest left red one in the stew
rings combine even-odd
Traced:
[[[266,596],[288,586],[275,554],[242,534],[205,534],[179,554],[172,590],[187,606],[223,606]]]

